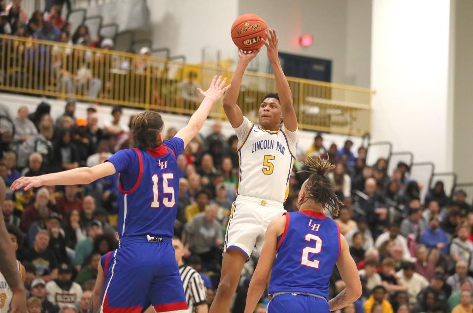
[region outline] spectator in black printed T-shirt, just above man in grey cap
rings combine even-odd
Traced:
[[[58,261],[54,251],[48,248],[49,234],[41,229],[36,234],[34,246],[27,249],[20,258],[21,262],[29,261],[36,269],[36,276],[44,281],[56,279],[58,276]]]

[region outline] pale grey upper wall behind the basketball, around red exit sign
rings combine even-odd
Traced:
[[[336,83],[370,86],[372,0],[148,0],[151,37],[155,47],[168,46],[190,63],[206,58],[236,60],[230,37],[235,18],[243,13],[261,15],[280,37],[281,52],[333,61]],[[218,13],[216,13],[218,12]],[[300,47],[299,36],[312,34],[314,44]],[[149,34],[146,34],[149,35]],[[265,49],[262,50],[262,52]],[[267,58],[252,66],[267,70]]]

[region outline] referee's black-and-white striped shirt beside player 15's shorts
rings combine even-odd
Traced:
[[[201,275],[192,267],[182,265],[179,267],[179,275],[184,286],[189,313],[194,313],[195,308],[207,300],[207,289],[203,285]]]

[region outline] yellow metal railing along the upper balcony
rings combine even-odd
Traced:
[[[214,75],[230,68],[188,65],[132,53],[0,35],[0,90],[192,114]],[[288,77],[300,129],[360,136],[370,132],[372,90]],[[275,92],[273,75],[248,71],[238,105],[257,120]],[[225,119],[221,105],[210,116]]]

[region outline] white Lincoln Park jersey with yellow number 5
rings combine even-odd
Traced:
[[[284,126],[271,132],[243,117],[235,129],[238,137],[240,173],[238,195],[284,202],[289,193],[289,177],[296,157],[298,130]]]

